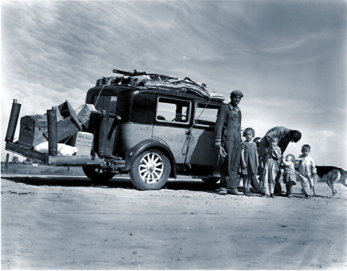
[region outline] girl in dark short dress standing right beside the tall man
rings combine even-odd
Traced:
[[[255,136],[254,129],[246,128],[243,131],[246,141],[241,143],[241,173],[243,175],[243,195],[251,197],[254,194],[250,191],[251,180],[258,172],[258,154],[256,152],[256,143],[252,141]]]

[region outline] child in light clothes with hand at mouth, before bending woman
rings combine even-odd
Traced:
[[[270,147],[265,149],[263,157],[261,158],[261,167],[263,168],[261,196],[270,196],[271,198],[275,198],[275,179],[279,170],[278,166],[282,155],[281,150],[278,147],[278,137],[271,137],[269,143]]]

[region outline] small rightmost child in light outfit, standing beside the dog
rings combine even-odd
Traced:
[[[299,180],[305,198],[311,198],[311,189],[313,190],[313,196],[316,196],[315,184],[317,182],[317,169],[315,162],[308,155],[311,152],[310,145],[302,145],[301,155],[299,156],[295,167],[299,171]]]

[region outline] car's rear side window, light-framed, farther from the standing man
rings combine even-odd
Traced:
[[[159,97],[156,120],[162,122],[188,123],[190,102]]]

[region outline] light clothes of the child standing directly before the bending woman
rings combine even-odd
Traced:
[[[276,147],[277,153],[271,147],[264,151],[263,163],[263,178],[261,180],[261,193],[265,195],[274,194],[275,179],[279,170],[278,165],[281,158],[281,150]]]

